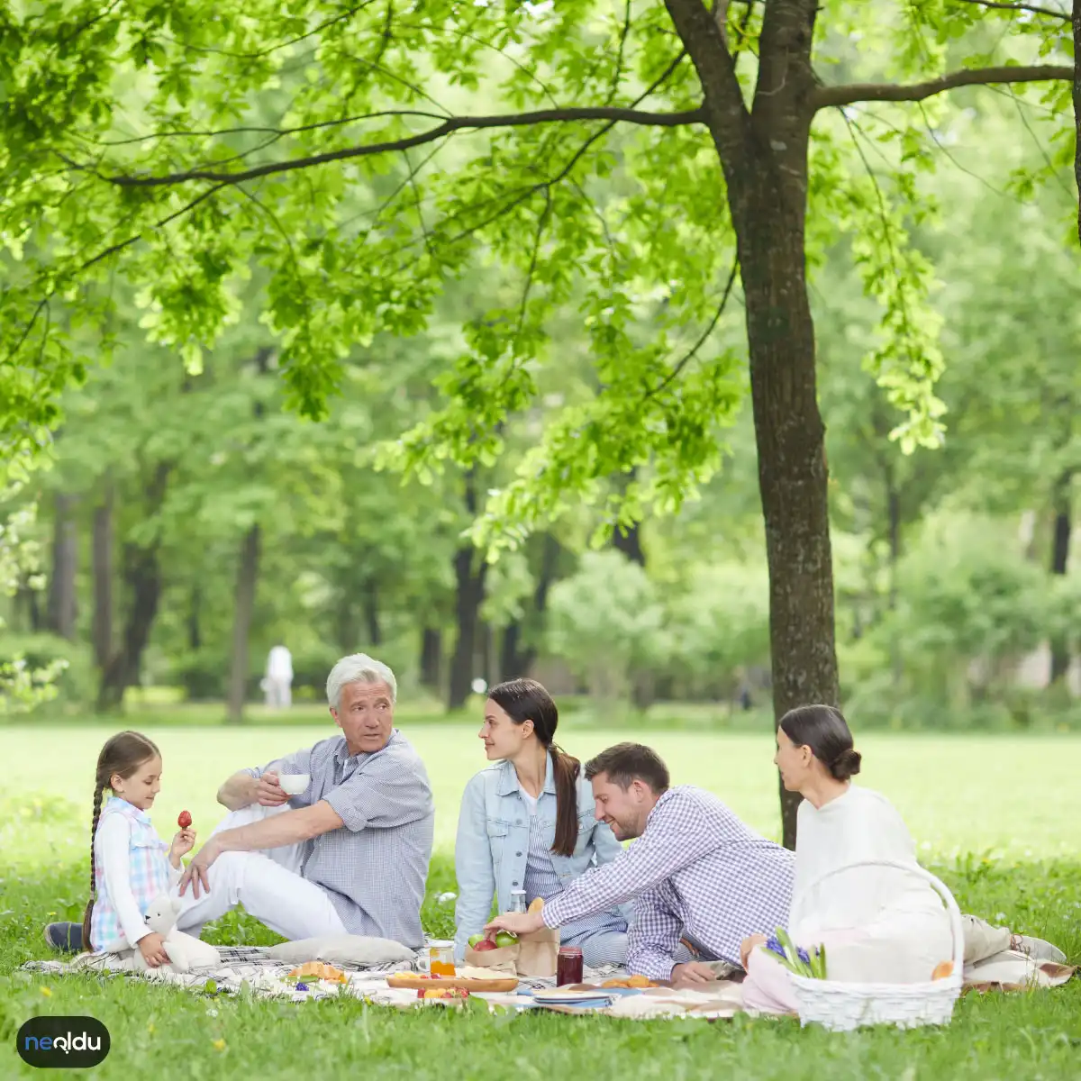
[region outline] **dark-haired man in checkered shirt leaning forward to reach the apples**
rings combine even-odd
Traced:
[[[597,817],[618,840],[638,840],[540,912],[501,916],[490,927],[558,927],[633,898],[627,969],[689,985],[713,978],[702,962],[739,965],[745,938],[787,926],[793,854],[759,837],[716,796],[670,788],[667,766],[641,744],[602,751],[586,763],[586,777]]]

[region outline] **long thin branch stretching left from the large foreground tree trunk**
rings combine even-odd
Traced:
[[[597,106],[566,109],[540,109],[536,112],[519,112],[490,117],[449,117],[443,123],[417,135],[409,135],[400,139],[385,143],[369,143],[362,146],[346,147],[342,150],[329,150],[306,158],[293,158],[286,161],[271,161],[264,165],[254,165],[240,172],[219,172],[208,169],[192,169],[182,173],[168,173],[162,176],[103,176],[102,179],[124,188],[165,187],[175,184],[186,184],[188,181],[211,181],[216,184],[239,184],[243,181],[254,181],[259,176],[270,176],[275,173],[289,173],[298,169],[310,169],[324,165],[332,161],[346,161],[350,158],[366,158],[376,154],[390,154],[409,150],[414,146],[433,143],[453,132],[479,130],[483,128],[524,128],[533,124],[560,123],[580,120],[608,120],[612,123],[641,124],[653,128],[676,128],[683,124],[705,123],[705,112],[699,107],[683,112],[641,112],[632,108]],[[90,166],[69,162],[74,168],[86,172],[95,172]]]

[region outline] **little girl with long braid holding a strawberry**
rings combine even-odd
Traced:
[[[102,806],[108,789],[111,798]],[[112,736],[97,756],[91,826],[90,903],[82,921],[89,949],[117,952],[138,948],[150,967],[165,963],[161,935],[144,922],[150,903],[179,882],[181,857],[196,842],[182,829],[162,841],[149,811],[161,789],[161,753],[138,732]]]

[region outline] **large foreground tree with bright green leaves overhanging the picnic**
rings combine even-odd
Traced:
[[[9,440],[54,424],[57,389],[81,374],[84,352],[53,307],[99,321],[112,301],[92,286],[118,267],[145,286],[148,337],[196,372],[257,261],[290,400],[322,416],[356,343],[417,332],[448,278],[495,256],[517,268],[519,302],[470,319],[437,384],[445,408],[392,442],[385,462],[423,473],[450,454],[466,469],[490,467],[508,417],[537,389],[551,312],[577,303],[593,393],[549,422],[519,476],[488,499],[477,536],[518,544],[600,480],[638,467],[627,525],[645,507],[678,509],[719,464],[739,357],[708,339],[738,271],[774,706],[836,700],[806,257],[838,229],[853,235],[865,288],[883,305],[869,365],[899,414],[892,435],[906,448],[934,443],[942,358],[925,318],[929,275],[906,236],[919,213],[913,177],[930,163],[912,136],[925,114],[883,103],[1041,83],[1063,115],[1075,80],[1065,13],[990,0],[889,10],[563,0],[473,5],[463,22],[453,3],[328,17],[319,4],[266,0],[105,12],[78,0],[3,18]],[[853,59],[854,40],[855,81],[822,78]],[[282,82],[293,67],[305,77],[295,94]],[[886,68],[897,81],[875,81]],[[899,130],[889,184],[866,169],[860,131],[876,121],[854,114],[868,102]],[[627,134],[606,143],[616,125]],[[633,195],[599,206],[590,187],[617,165]],[[343,193],[373,174],[400,184],[358,217]],[[643,322],[652,343],[635,349]],[[783,809],[791,844],[796,801],[783,797]]]

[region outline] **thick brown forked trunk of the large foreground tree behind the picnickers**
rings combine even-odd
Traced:
[[[836,705],[833,568],[825,429],[808,301],[808,147],[816,77],[817,0],[765,5],[748,111],[723,32],[702,0],[665,0],[697,70],[706,123],[728,188],[743,279],[770,571],[776,720],[804,703]],[[796,844],[798,795],[780,784],[784,843]]]

